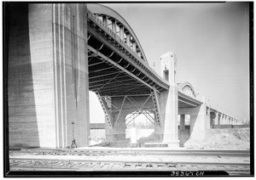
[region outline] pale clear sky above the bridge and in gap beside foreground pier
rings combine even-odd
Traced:
[[[176,82],[189,82],[198,98],[249,119],[248,3],[105,3],[137,35],[148,64],[161,76],[160,56],[177,55]],[[153,67],[153,64],[154,67]],[[90,93],[90,122],[104,122]]]

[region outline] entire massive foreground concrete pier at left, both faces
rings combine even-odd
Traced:
[[[86,4],[9,5],[9,146],[89,145]],[[74,124],[72,125],[72,121]]]

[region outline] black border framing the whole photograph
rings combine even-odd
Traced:
[[[9,172],[9,115],[8,115],[8,47],[9,47],[9,5],[12,3],[225,3],[225,1],[204,1],[204,2],[143,2],[143,1],[122,1],[122,2],[3,2],[3,177],[172,177],[171,172]],[[241,2],[236,2],[241,3]],[[253,84],[253,6],[249,3],[249,86],[250,86],[250,176],[254,177],[254,84]],[[206,172],[204,177],[224,177],[225,172]],[[232,176],[232,177],[250,177]]]

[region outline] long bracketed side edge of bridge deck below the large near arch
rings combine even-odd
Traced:
[[[137,53],[135,53],[119,36],[117,36],[109,27],[108,25],[105,25],[102,20],[97,18],[97,16],[88,10],[88,17],[95,21],[95,23],[100,26],[106,33],[108,33],[108,36],[112,37],[116,42],[119,42],[119,44],[125,48],[126,51],[128,51],[135,59],[131,59],[135,64],[142,66],[143,70],[145,70],[150,76],[153,76],[154,79],[157,80],[157,82],[160,82],[160,84],[164,85],[166,88],[169,87],[169,83],[162,79],[146,62],[141,59]],[[137,61],[136,61],[137,59]]]

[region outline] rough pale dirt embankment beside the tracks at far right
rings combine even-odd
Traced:
[[[249,128],[210,129],[207,138],[198,141],[189,138],[186,149],[250,149]]]

